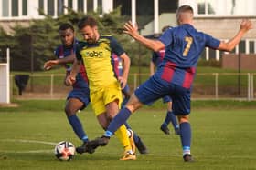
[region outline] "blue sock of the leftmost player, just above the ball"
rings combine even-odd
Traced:
[[[72,126],[75,134],[78,135],[78,137],[83,142],[87,142],[88,136],[85,134],[85,132],[82,128],[79,117],[77,115],[71,115],[71,116],[68,116],[68,119],[69,119],[69,124]]]

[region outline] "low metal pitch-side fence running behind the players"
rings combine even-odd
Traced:
[[[197,73],[192,98],[194,99],[256,99],[256,73]],[[15,75],[10,76],[11,98],[59,99],[65,98],[71,89],[63,85],[62,74],[31,74],[22,93],[18,89]],[[128,84],[133,90],[148,79],[147,74],[130,74]]]

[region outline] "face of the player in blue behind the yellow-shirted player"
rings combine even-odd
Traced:
[[[59,30],[59,37],[62,45],[73,45],[75,35],[73,30],[71,30],[70,28],[66,30]]]

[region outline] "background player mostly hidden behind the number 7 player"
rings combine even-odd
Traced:
[[[169,26],[169,25],[164,26],[162,28],[162,33],[164,33],[165,30],[171,27],[172,26]],[[153,52],[152,58],[150,61],[150,75],[154,75],[155,67],[157,67],[163,61],[164,56],[165,56],[165,49],[161,49],[157,52]],[[160,126],[160,129],[166,135],[170,135],[170,129],[168,128],[168,125],[170,124],[170,122],[172,122],[176,135],[179,135],[179,126],[176,121],[176,115],[174,115],[174,112],[172,111],[172,98],[169,95],[165,95],[162,98],[162,100],[163,100],[163,103],[167,104],[167,113],[165,115],[165,120],[163,124]]]

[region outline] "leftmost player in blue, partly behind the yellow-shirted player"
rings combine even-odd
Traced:
[[[59,38],[61,45],[57,47],[54,55],[56,60],[49,60],[45,63],[44,67],[48,70],[54,65],[63,65],[66,68],[66,76],[69,75],[71,64],[74,60],[76,53],[76,45],[78,41],[75,39],[74,27],[68,23],[59,26]],[[88,135],[86,135],[80,118],[77,116],[77,112],[83,110],[90,103],[90,91],[88,86],[88,78],[84,66],[80,66],[80,73],[76,77],[76,82],[73,84],[73,89],[69,92],[67,97],[65,113],[69,120],[69,124],[72,126],[75,134],[83,142],[83,145],[88,142]],[[94,150],[88,151],[90,154]]]

